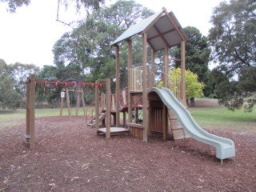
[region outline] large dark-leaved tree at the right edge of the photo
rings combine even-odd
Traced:
[[[216,94],[219,102],[230,110],[240,109],[246,102],[251,111],[256,104],[256,2],[230,0],[215,7],[210,29]],[[219,77],[226,77],[220,82]]]

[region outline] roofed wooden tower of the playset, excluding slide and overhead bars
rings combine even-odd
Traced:
[[[132,38],[136,35],[142,35],[142,66],[133,65],[133,48]],[[170,70],[168,58],[169,50],[173,46],[181,47],[181,62],[182,78],[179,80],[178,99],[183,105],[186,105],[185,94],[185,45],[188,41],[182,26],[179,24],[172,12],[168,13],[165,8],[159,13],[156,13],[142,22],[131,26],[113,43],[116,51],[116,109],[119,109],[120,93],[120,63],[119,63],[119,44],[126,42],[128,46],[128,90],[127,104],[128,120],[127,127],[130,135],[134,138],[141,138],[144,142],[148,141],[148,137],[154,133],[162,133],[163,139],[167,138],[168,130],[171,130],[174,139],[187,138],[188,134],[178,124],[177,118],[166,106],[162,103],[157,94],[150,93],[150,88],[156,86],[155,73],[156,68],[155,54],[158,51],[163,51],[163,66],[162,66],[162,82],[164,87],[170,85],[168,72]],[[151,63],[148,63],[148,48],[151,50]],[[136,103],[136,105],[134,105]],[[139,122],[137,116],[133,119],[133,114],[138,110],[142,110],[142,122]],[[120,127],[119,111],[116,112],[115,125]],[[169,129],[170,126],[170,129]]]

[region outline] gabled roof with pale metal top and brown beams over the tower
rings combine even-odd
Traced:
[[[147,42],[154,51],[163,50],[167,46],[177,46],[180,42],[188,41],[185,31],[179,24],[173,12],[168,13],[165,8],[161,12],[151,15],[134,26],[130,26],[111,45],[132,38],[136,34],[147,34]]]

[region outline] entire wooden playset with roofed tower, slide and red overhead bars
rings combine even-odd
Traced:
[[[132,40],[137,34],[142,35],[142,66],[133,65]],[[128,87],[120,89],[120,61],[119,49],[121,42],[128,46]],[[95,115],[86,122],[94,126],[96,134],[105,134],[110,138],[115,134],[130,134],[148,142],[148,138],[155,132],[162,134],[166,140],[168,134],[175,139],[194,138],[216,148],[216,157],[221,160],[235,156],[234,142],[228,138],[218,137],[203,130],[194,121],[186,109],[185,94],[185,44],[188,37],[182,30],[172,12],[163,9],[142,22],[131,26],[113,43],[116,51],[116,89],[115,94],[110,91],[110,78],[106,83],[76,82],[81,86],[95,87]],[[170,82],[169,49],[173,46],[181,47],[181,78]],[[147,53],[151,50],[151,62]],[[161,78],[156,77],[155,55],[163,51]],[[158,81],[155,81],[155,79]],[[163,87],[159,89],[159,79]],[[26,109],[26,139],[30,148],[34,147],[34,91],[36,83],[62,84],[67,82],[39,82],[32,75],[27,81],[27,109]],[[74,82],[70,82],[71,84]],[[101,93],[101,87],[106,86],[106,94]],[[172,87],[174,86],[174,87]],[[171,91],[172,90],[172,91]],[[174,93],[174,94],[173,94]],[[123,125],[120,123],[120,114]],[[126,118],[126,113],[128,118]],[[114,117],[112,122],[111,116]],[[87,115],[86,115],[87,117]]]

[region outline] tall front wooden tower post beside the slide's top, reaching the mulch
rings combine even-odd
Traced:
[[[148,101],[147,101],[147,38],[142,34],[142,102],[143,102],[143,142],[147,142],[148,136]]]

